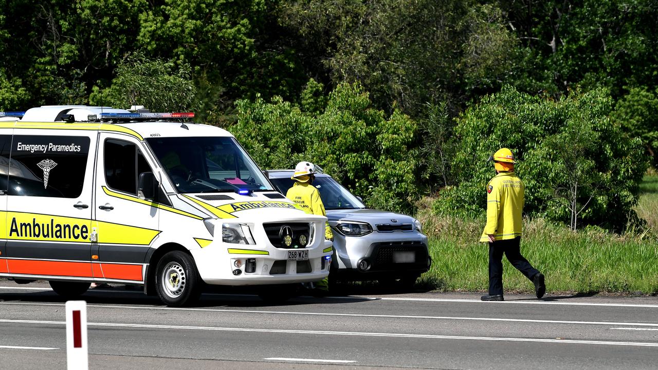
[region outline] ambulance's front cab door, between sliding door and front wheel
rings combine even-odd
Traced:
[[[155,203],[138,197],[141,172],[152,172],[137,138],[101,132],[95,188],[98,256],[103,277],[143,281],[151,242],[160,234]]]

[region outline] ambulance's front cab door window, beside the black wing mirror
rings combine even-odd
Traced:
[[[137,195],[141,172],[152,172],[137,145],[123,140],[105,141],[105,182],[113,190]]]

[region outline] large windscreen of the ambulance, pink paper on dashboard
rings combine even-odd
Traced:
[[[273,190],[234,138],[147,138],[179,193]]]

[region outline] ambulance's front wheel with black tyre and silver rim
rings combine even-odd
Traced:
[[[188,253],[170,251],[155,271],[155,291],[169,307],[192,304],[201,294],[201,277]]]

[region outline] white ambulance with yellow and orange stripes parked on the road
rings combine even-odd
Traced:
[[[91,282],[139,285],[170,306],[204,284],[326,277],[326,217],[274,190],[232,134],[191,118],[78,105],[0,113],[0,277],[47,280],[66,297]]]

